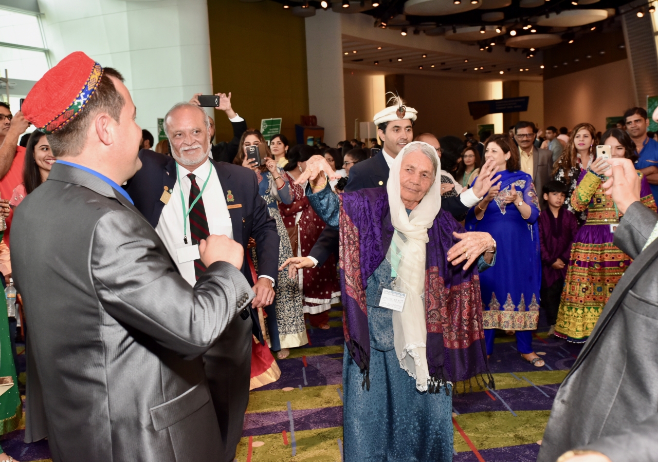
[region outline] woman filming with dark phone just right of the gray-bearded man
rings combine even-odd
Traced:
[[[249,159],[245,154],[247,146],[251,145],[259,146],[261,157],[264,160],[263,166],[249,164]],[[282,264],[293,254],[288,231],[286,231],[286,226],[277,205],[278,202],[291,204],[293,201],[290,184],[282,177],[282,172],[279,170],[276,160],[272,158],[263,135],[258,131],[248,130],[243,133],[234,163],[251,168],[256,173],[261,197],[267,204],[270,216],[276,221],[276,230],[280,237],[279,264]],[[257,268],[258,260],[254,249],[251,251],[251,258]],[[309,340],[306,335],[304,312],[297,279],[290,279],[285,271],[282,271],[279,275],[278,284],[274,289],[276,290],[274,304],[265,308],[265,312],[268,313],[267,327],[272,351],[278,352],[278,359],[284,359],[290,354],[290,348],[305,345]]]

